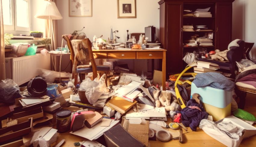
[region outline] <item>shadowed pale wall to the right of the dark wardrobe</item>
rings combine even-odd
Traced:
[[[256,0],[235,0],[233,2],[232,39],[255,43],[250,57],[256,61]]]

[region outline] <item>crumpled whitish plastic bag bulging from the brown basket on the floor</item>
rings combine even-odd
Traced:
[[[79,90],[86,91],[85,95],[90,104],[95,104],[102,94],[107,93],[105,82],[98,80],[98,78],[92,81],[86,77],[80,84]]]

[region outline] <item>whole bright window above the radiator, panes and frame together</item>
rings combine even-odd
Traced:
[[[2,0],[4,29],[30,31],[30,0]]]

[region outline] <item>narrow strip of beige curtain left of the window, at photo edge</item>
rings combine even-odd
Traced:
[[[1,24],[1,36],[0,36],[0,80],[5,80],[5,41],[4,41],[4,23],[3,23],[3,10],[2,0],[0,0],[0,24]]]

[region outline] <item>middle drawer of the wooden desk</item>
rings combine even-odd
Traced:
[[[135,53],[136,53],[135,51],[109,52],[108,59],[136,59]]]

